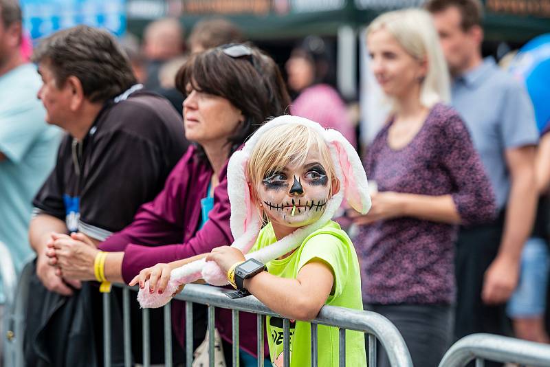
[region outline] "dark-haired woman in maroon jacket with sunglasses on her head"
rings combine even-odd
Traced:
[[[255,47],[234,44],[192,55],[176,85],[186,96],[185,135],[195,144],[172,170],[164,190],[142,205],[124,230],[97,246],[84,234],[54,235],[50,265],[64,278],[96,280],[94,260],[108,252],[101,254],[107,256],[105,277],[127,284],[146,267],[232,243],[228,158],[267,119],[285,113],[290,104],[285,83],[272,58]],[[231,342],[230,310],[217,312],[221,337]],[[256,317],[241,313],[240,319],[241,348],[256,355]],[[183,302],[173,302],[172,320],[184,346]]]

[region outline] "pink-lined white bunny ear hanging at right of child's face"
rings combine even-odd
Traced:
[[[337,170],[336,175],[340,180],[340,190],[344,190],[344,197],[351,208],[361,214],[366,214],[371,209],[371,197],[366,173],[357,151],[336,130],[325,131],[325,137],[329,142],[332,159]]]

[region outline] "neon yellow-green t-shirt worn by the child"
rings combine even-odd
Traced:
[[[261,230],[253,251],[276,241],[273,227]],[[281,278],[296,279],[298,271],[313,259],[320,259],[331,267],[334,276],[333,291],[327,302],[331,306],[363,309],[359,262],[353,243],[338,223],[329,221],[310,234],[290,256],[267,263],[267,271]],[[270,357],[276,367],[283,366],[283,319],[266,318]],[[338,328],[318,326],[319,366],[338,366]],[[309,322],[290,322],[290,367],[310,365],[311,332]],[[366,366],[364,333],[346,331],[347,366]]]

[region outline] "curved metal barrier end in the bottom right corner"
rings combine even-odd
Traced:
[[[463,367],[472,360],[476,367],[485,360],[518,364],[520,367],[549,367],[550,346],[492,334],[472,334],[454,343],[439,367]]]

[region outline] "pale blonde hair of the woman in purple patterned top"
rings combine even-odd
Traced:
[[[405,9],[378,16],[366,29],[366,36],[386,30],[413,58],[426,60],[426,77],[421,82],[420,103],[431,108],[450,102],[450,76],[432,17],[426,10]]]

